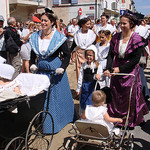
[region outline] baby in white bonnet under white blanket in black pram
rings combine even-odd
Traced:
[[[40,74],[21,73],[12,80],[14,71],[13,66],[0,64],[0,102],[24,95],[37,95],[50,85],[49,78]]]

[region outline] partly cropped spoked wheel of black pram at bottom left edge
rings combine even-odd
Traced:
[[[25,150],[25,139],[23,137],[13,138],[6,145],[5,150]]]

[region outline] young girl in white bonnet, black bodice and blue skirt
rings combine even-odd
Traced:
[[[77,84],[77,95],[80,93],[80,107],[81,111],[85,110],[86,105],[91,105],[91,96],[94,91],[96,80],[100,80],[102,73],[102,66],[96,61],[97,49],[94,45],[89,46],[85,50],[86,62],[82,64],[79,79]]]

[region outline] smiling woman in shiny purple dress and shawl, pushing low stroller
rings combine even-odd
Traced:
[[[133,32],[136,18],[131,14],[120,17],[122,32],[115,34],[111,40],[110,51],[107,59],[106,76],[113,73],[127,73],[135,75],[135,82],[131,96],[129,114],[129,127],[139,125],[144,121],[143,116],[148,113],[148,108],[141,92],[141,80],[139,74],[139,60],[141,57],[141,37]],[[132,76],[111,76],[112,101],[108,104],[108,113],[112,117],[127,116],[129,106],[129,93],[133,81]],[[124,126],[125,121],[119,126]]]

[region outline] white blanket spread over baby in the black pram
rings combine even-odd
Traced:
[[[0,102],[20,96],[13,91],[14,86],[12,85],[19,87],[22,93],[21,96],[35,96],[41,91],[46,91],[50,85],[50,81],[46,75],[21,73],[8,86],[1,88]]]

